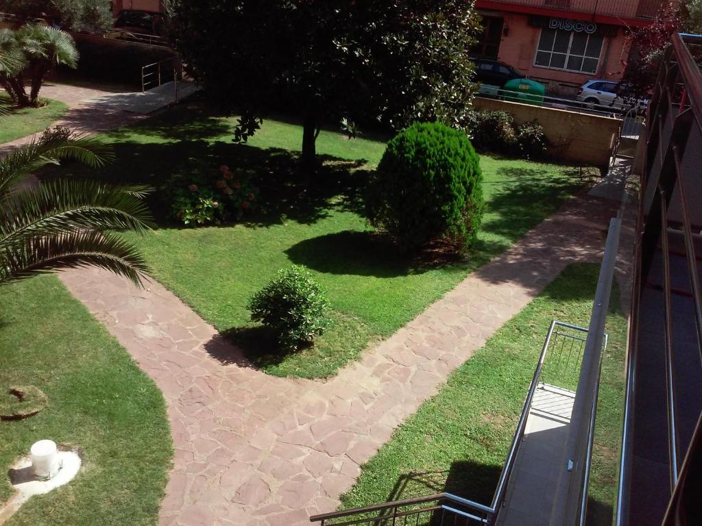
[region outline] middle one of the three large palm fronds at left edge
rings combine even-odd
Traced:
[[[37,235],[81,229],[143,232],[152,217],[144,187],[113,187],[89,180],[51,180],[8,194],[0,201],[0,248]]]

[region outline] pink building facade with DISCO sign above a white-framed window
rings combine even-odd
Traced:
[[[477,0],[484,32],[474,53],[505,62],[549,93],[589,79],[621,79],[630,28],[649,25],[662,0]]]

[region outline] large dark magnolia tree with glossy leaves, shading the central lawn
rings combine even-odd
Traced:
[[[194,76],[240,115],[234,138],[246,140],[271,112],[293,113],[303,121],[303,161],[314,159],[323,121],[451,123],[472,97],[472,1],[166,0],[166,8]]]

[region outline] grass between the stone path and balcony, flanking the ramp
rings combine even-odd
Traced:
[[[342,508],[437,492],[490,504],[543,339],[553,318],[588,326],[599,267],[574,264],[506,323],[364,466]],[[611,525],[621,438],[626,320],[607,320],[590,483],[590,525]],[[548,357],[547,357],[548,367]]]

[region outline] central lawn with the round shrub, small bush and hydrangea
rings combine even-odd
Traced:
[[[263,208],[248,222],[182,229],[159,219],[159,229],[147,236],[126,235],[137,241],[155,278],[273,375],[333,375],[373,339],[391,335],[554,213],[592,173],[482,156],[488,209],[470,255],[408,260],[373,235],[362,216],[359,196],[383,142],[323,131],[318,153],[326,162],[310,175],[300,173],[293,151],[302,137],[299,126],[267,120],[249,144],[239,145],[231,141],[233,124],[192,106],[109,133],[103,137],[114,144],[118,161],[99,176],[160,187],[202,161],[214,169],[225,163],[258,170]],[[159,196],[152,204],[162,218]],[[272,351],[269,335],[249,322],[246,302],[292,263],[309,267],[329,290],[335,323],[311,349],[281,356]]]

